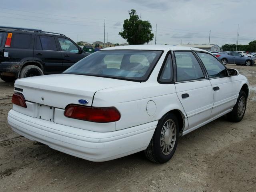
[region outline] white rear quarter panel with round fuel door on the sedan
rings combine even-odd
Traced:
[[[148,110],[153,110],[153,114],[150,115],[147,112],[149,101],[153,104],[148,106]],[[155,111],[154,103],[151,101],[155,103]],[[115,106],[121,114],[121,119],[116,122],[116,130],[157,121],[174,109],[179,110],[185,116],[174,84],[159,84],[158,82],[100,90],[94,95],[92,106]]]

